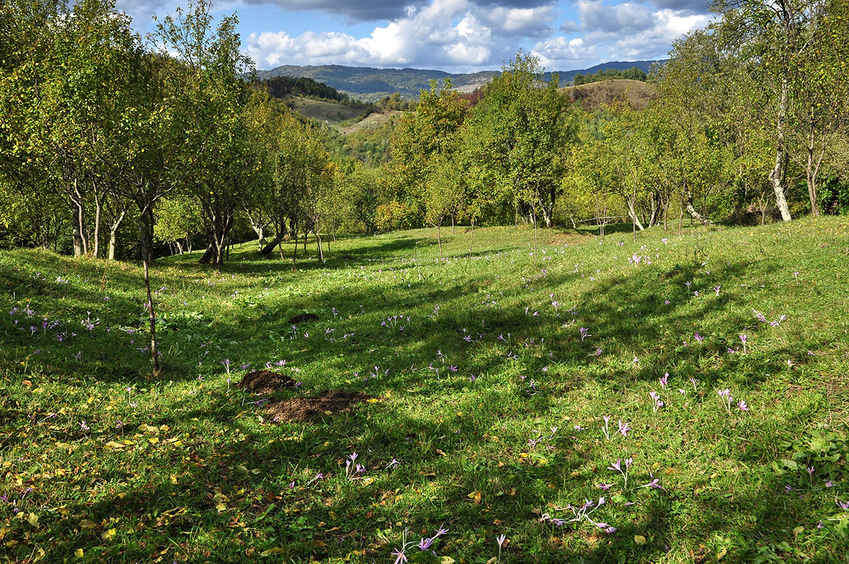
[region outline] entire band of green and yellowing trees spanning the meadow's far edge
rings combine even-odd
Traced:
[[[447,81],[413,107],[386,97],[400,118],[355,147],[274,98],[344,94],[252,78],[235,16],[214,22],[208,3],[143,40],[110,0],[15,0],[0,46],[0,244],[145,262],[200,247],[221,268],[234,241],[270,254],[340,230],[591,222],[604,234],[625,219],[636,233],[846,213],[846,3],[782,6],[715,3],[717,21],[648,77],[645,110],[580,110],[520,52],[474,95]]]

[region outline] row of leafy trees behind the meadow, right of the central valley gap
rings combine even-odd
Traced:
[[[404,115],[367,228],[448,219],[550,226],[625,219],[790,221],[849,213],[849,8],[838,0],[717,2],[676,42],[647,109],[592,113],[519,54],[477,104],[450,85]]]

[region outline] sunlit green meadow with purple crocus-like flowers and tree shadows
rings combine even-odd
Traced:
[[[0,555],[395,561],[444,525],[446,562],[845,560],[845,218],[541,231],[536,254],[485,228],[471,258],[444,234],[444,261],[433,230],[295,273],[253,245],[221,274],[161,260],[158,380],[138,268],[0,254]],[[267,363],[302,382],[278,398],[376,401],[274,422],[236,386]]]

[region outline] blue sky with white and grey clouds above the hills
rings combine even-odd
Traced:
[[[707,0],[222,0],[257,69],[347,65],[498,70],[521,48],[546,71],[666,59],[710,21]],[[174,0],[118,0],[138,31]]]

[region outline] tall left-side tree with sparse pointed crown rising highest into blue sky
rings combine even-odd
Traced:
[[[201,262],[221,268],[236,211],[250,189],[256,155],[248,143],[243,79],[253,63],[241,53],[236,17],[225,16],[213,30],[211,3],[198,0],[183,13],[157,24],[160,49],[180,62],[177,83],[186,121],[186,147],[197,155],[188,189],[200,201],[207,251]]]

